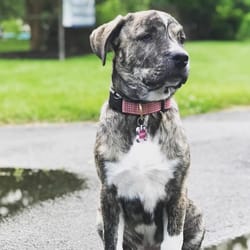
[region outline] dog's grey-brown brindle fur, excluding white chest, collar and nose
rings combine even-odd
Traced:
[[[147,34],[149,36],[147,37]],[[93,51],[105,64],[106,53],[114,50],[112,88],[135,101],[155,101],[170,97],[183,84],[188,69],[178,68],[173,53],[181,51],[184,32],[169,14],[158,11],[118,16],[93,31]],[[177,48],[172,48],[177,44]],[[187,198],[185,179],[190,153],[178,108],[145,116],[145,125],[169,160],[178,159],[174,178],[165,183],[165,198],[155,204],[153,212],[145,211],[138,198],[119,197],[117,187],[107,183],[107,163],[119,163],[131,149],[137,127],[137,116],[112,110],[104,104],[96,136],[95,161],[101,180],[102,222],[98,225],[105,250],[117,249],[119,214],[125,219],[123,249],[160,249],[163,241],[163,213],[168,218],[168,234],[183,232],[182,250],[198,250],[204,235],[202,215]],[[144,246],[144,235],[135,231],[138,225],[156,225],[154,246]],[[166,249],[168,250],[168,249]],[[170,249],[174,250],[174,249]]]

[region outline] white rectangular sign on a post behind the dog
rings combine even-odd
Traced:
[[[63,0],[64,27],[95,25],[95,0]]]

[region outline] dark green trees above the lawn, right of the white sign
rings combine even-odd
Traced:
[[[246,30],[249,0],[106,0],[97,1],[97,25],[127,12],[158,9],[170,12],[190,39],[236,39]],[[243,26],[243,27],[242,27]],[[241,31],[239,31],[241,29]]]

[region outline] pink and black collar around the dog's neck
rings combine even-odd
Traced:
[[[171,108],[171,99],[154,102],[133,102],[122,98],[117,92],[110,90],[109,106],[115,111],[130,115],[149,115]]]

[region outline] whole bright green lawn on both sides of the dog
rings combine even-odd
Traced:
[[[188,82],[176,94],[182,115],[250,105],[250,43],[190,42]],[[0,59],[0,123],[96,120],[108,96],[111,60]]]

